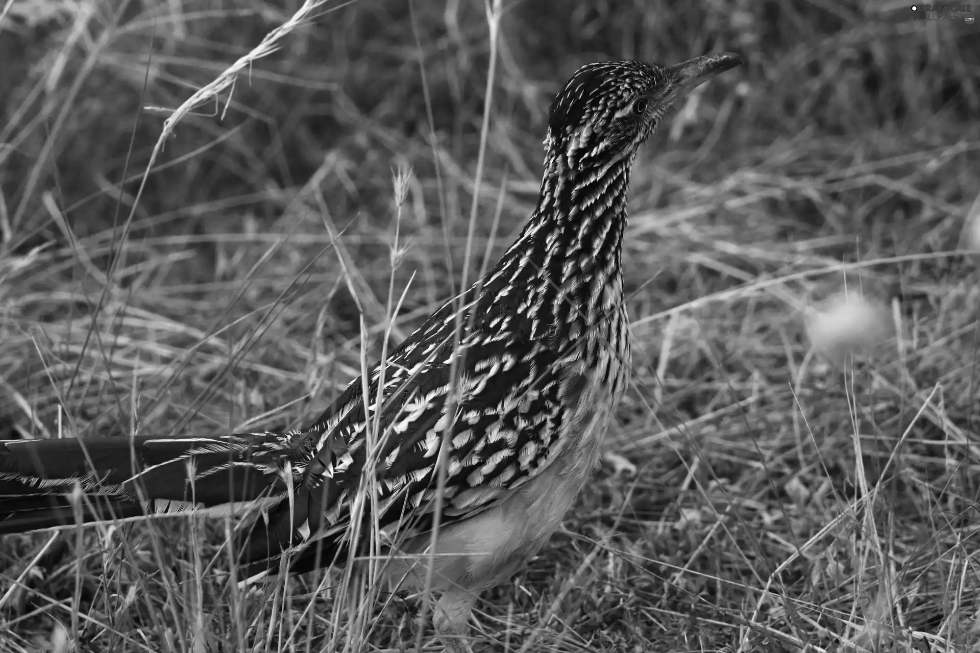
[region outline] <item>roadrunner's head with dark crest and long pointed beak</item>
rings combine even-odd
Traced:
[[[551,172],[608,169],[631,159],[674,100],[743,61],[721,53],[670,67],[620,61],[576,70],[548,117],[545,146],[559,168]]]

